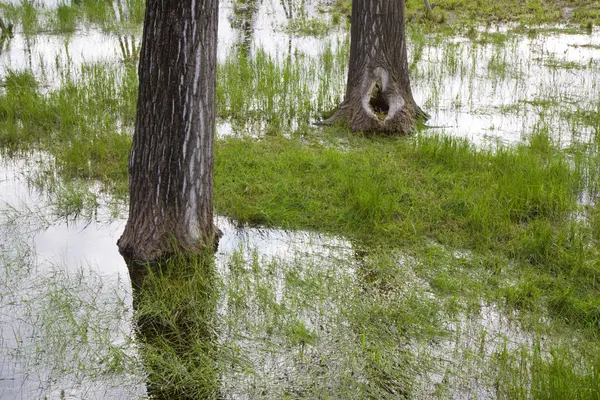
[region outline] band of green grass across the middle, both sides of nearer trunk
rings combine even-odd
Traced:
[[[257,64],[263,62],[272,63],[257,58]],[[4,148],[48,151],[55,162],[50,167],[63,178],[99,180],[124,196],[131,138],[116,127],[133,123],[136,97],[135,71],[125,71],[118,78],[110,68],[85,66],[81,80],[66,78],[47,95],[31,74],[9,74],[0,94]],[[251,71],[239,68],[240,76]],[[290,89],[284,85],[281,92]],[[245,99],[242,93],[227,101]],[[248,102],[230,109],[246,118],[255,107],[267,117],[279,107],[293,107],[272,95],[257,95],[258,107]],[[547,278],[507,289],[509,303],[544,304],[558,316],[592,326],[598,305],[592,295],[597,282],[590,277],[597,265],[589,244],[595,239],[587,222],[573,216],[581,211],[578,199],[585,190],[597,186],[589,178],[598,176],[595,159],[576,157],[573,166],[547,131],[529,144],[491,151],[445,137],[366,138],[344,129],[303,127],[290,138],[218,140],[215,204],[219,213],[242,223],[320,230],[371,246],[404,248],[428,238],[502,254],[523,271],[539,270]],[[60,208],[73,208],[77,199],[63,194]],[[539,296],[527,301],[528,293]]]

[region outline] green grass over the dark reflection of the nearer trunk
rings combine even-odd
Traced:
[[[134,293],[135,318],[149,394],[161,399],[217,398],[212,257],[181,255],[146,272],[144,266],[137,268],[142,272],[133,282],[139,289]]]

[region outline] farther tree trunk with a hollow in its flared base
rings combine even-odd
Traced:
[[[410,89],[404,0],[353,0],[346,98],[325,123],[353,131],[409,133],[426,114]]]

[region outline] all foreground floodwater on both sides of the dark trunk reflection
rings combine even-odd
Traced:
[[[21,172],[32,168],[24,161],[5,161],[0,168],[5,238],[0,249],[0,398],[145,397],[131,284],[115,244],[125,220],[102,210],[91,221],[56,220],[48,199]],[[315,385],[336,393],[345,390],[346,379],[368,382],[361,377],[366,367],[352,339],[356,332],[345,316],[345,307],[363,295],[363,256],[353,244],[314,232],[238,227],[222,217],[215,222],[224,234],[215,259],[215,331],[224,357],[219,372],[225,398],[275,399],[310,393]],[[398,256],[404,274],[400,290],[437,302],[427,282],[412,272],[416,263]],[[271,314],[269,307],[287,312]],[[290,318],[290,329],[306,329],[310,345],[290,343],[289,332],[270,332],[273,318]],[[432,345],[415,338],[406,345],[406,351],[424,360],[444,360],[422,372],[415,392],[433,397],[436,385],[447,380],[448,365],[463,365],[463,354],[480,350],[477,338],[485,337],[480,362],[452,374],[457,382],[452,392],[455,398],[473,393],[494,398],[493,382],[474,372],[485,368],[483,360],[507,341],[517,348],[531,343],[532,336],[493,305],[483,304],[478,314],[460,314],[448,324],[448,339]]]

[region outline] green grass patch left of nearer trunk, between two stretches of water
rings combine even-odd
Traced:
[[[9,71],[0,91],[0,144],[23,154],[47,151],[63,178],[91,179],[124,196],[137,77],[102,64],[67,75],[45,93],[28,71]]]

